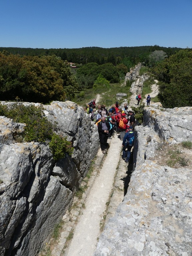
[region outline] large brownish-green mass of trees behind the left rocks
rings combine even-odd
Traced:
[[[77,88],[67,61],[60,57],[0,53],[0,100],[65,101]]]

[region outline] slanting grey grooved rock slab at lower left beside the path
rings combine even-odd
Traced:
[[[52,231],[63,212],[71,205],[73,193],[62,186],[56,177],[50,176],[43,195],[43,201],[36,208],[30,232],[23,238],[17,256],[37,255],[45,241],[51,238]]]

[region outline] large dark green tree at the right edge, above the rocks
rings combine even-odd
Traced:
[[[181,50],[165,59],[153,69],[159,82],[159,95],[163,107],[192,106],[192,51]]]

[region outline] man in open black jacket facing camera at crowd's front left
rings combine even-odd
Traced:
[[[105,117],[101,117],[101,122],[98,123],[98,133],[99,133],[99,141],[101,146],[101,151],[103,154],[107,152],[108,148],[108,133],[110,130],[110,124],[105,120]]]

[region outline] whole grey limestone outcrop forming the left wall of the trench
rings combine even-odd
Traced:
[[[58,134],[72,142],[74,152],[55,161],[46,143],[16,142],[25,124],[0,117],[1,256],[37,255],[71,205],[98,151],[97,127],[83,108],[70,101],[43,107],[47,118],[57,122]]]

